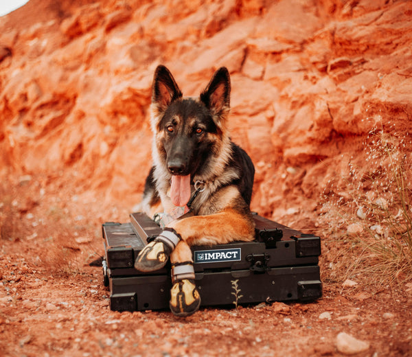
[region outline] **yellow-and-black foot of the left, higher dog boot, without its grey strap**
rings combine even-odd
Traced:
[[[163,242],[150,242],[137,255],[135,268],[139,271],[159,270],[168,262],[171,249]]]

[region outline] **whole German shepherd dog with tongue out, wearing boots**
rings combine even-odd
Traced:
[[[163,232],[139,253],[135,268],[157,270],[170,257],[170,309],[177,316],[193,314],[201,303],[190,246],[255,238],[249,209],[255,169],[229,137],[230,90],[225,67],[198,98],[183,97],[162,65],[152,83],[154,165],[140,209],[152,217],[163,212],[165,220]]]

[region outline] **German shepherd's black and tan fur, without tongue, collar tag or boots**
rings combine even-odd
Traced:
[[[190,246],[223,244],[254,238],[249,205],[254,168],[228,133],[229,72],[214,73],[198,98],[183,97],[170,71],[159,66],[152,84],[151,127],[154,165],[146,179],[141,210],[153,216],[174,206],[168,196],[173,174],[203,181],[204,191],[192,203],[194,216],[168,224],[182,240],[172,263],[192,261]]]

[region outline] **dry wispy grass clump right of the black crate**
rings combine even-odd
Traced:
[[[412,281],[411,137],[391,130],[371,130],[366,162],[348,159],[325,189],[323,211],[343,247],[332,262],[337,280],[363,275],[378,288]]]

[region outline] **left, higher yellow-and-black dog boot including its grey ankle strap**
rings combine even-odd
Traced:
[[[140,271],[159,270],[168,262],[170,253],[181,241],[181,236],[172,228],[165,228],[157,238],[137,255],[135,268]]]

